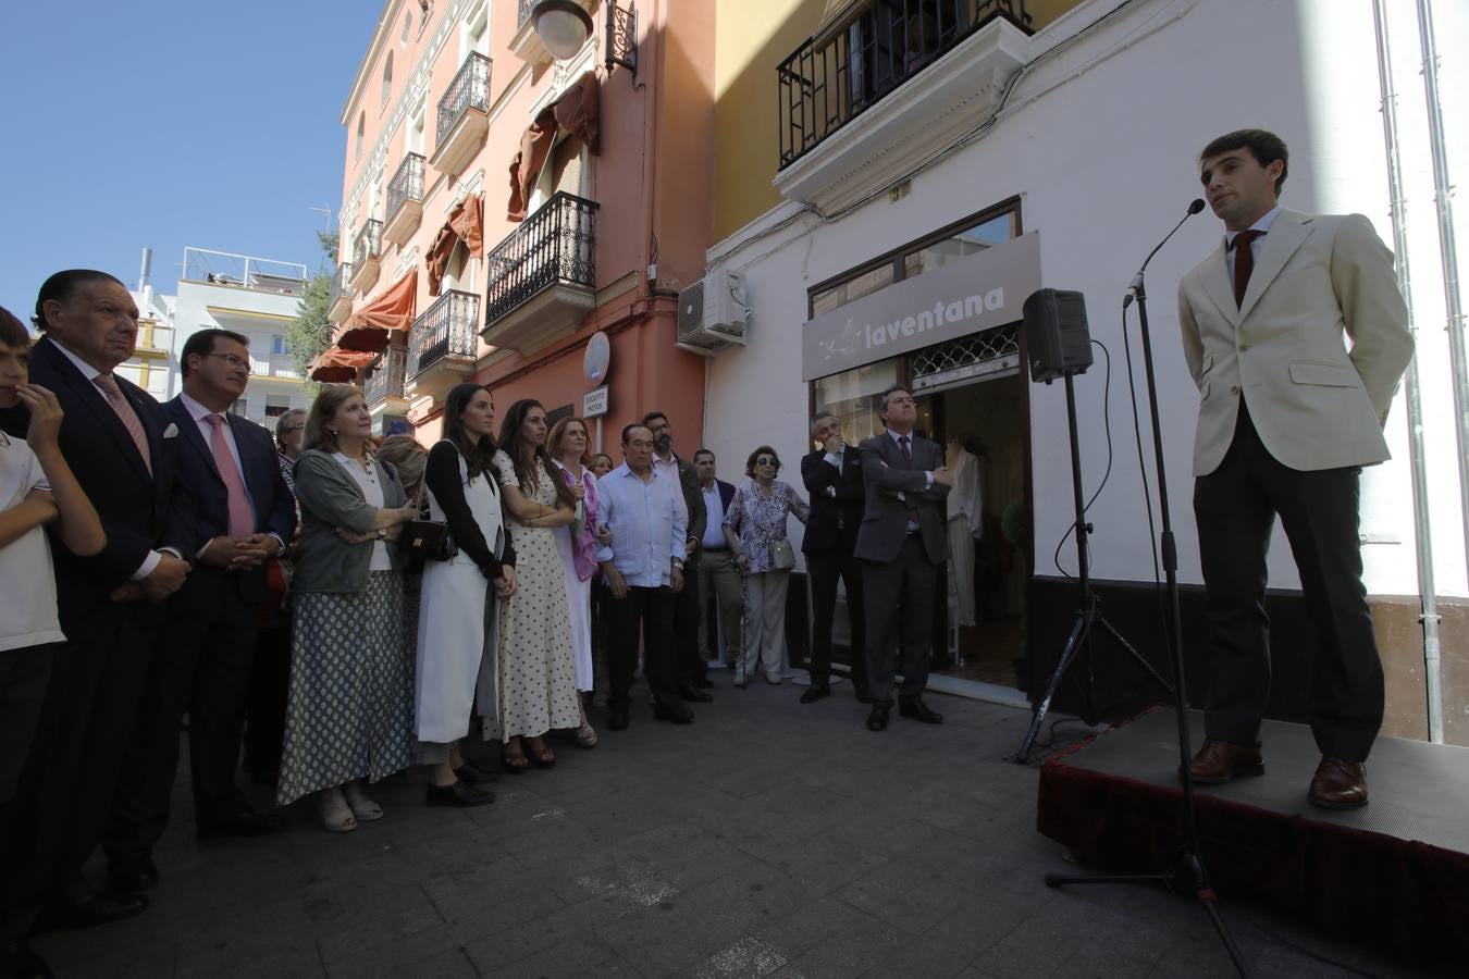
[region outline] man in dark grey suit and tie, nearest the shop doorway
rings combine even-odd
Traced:
[[[902,386],[883,392],[878,410],[886,430],[862,442],[862,486],[867,493],[855,553],[862,565],[867,600],[867,691],[870,731],[887,728],[898,625],[903,633],[903,685],[898,712],[924,724],[943,715],[923,702],[933,644],[933,600],[939,565],[949,556],[939,502],[953,486],[943,446],[914,434],[918,404]]]

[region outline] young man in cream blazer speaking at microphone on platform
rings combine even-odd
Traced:
[[[1231,132],[1199,164],[1225,235],[1178,285],[1200,398],[1194,517],[1213,668],[1190,771],[1199,782],[1265,772],[1265,553],[1279,515],[1316,628],[1309,702],[1322,759],[1309,800],[1356,809],[1368,801],[1365,762],[1384,706],[1357,481],[1388,458],[1382,426],[1413,355],[1407,310],[1393,254],[1365,217],[1279,207],[1279,137]]]

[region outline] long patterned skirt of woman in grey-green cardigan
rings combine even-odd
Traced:
[[[413,672],[403,578],[372,571],[350,594],[295,596],[291,694],[276,803],[413,763]]]

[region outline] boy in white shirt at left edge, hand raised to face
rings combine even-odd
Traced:
[[[7,420],[29,415],[25,437],[0,430],[0,975],[48,975],[26,945],[24,917],[7,911],[24,897],[21,863],[32,840],[19,840],[16,785],[32,747],[53,644],[63,641],[56,616],[53,525],[66,546],[94,555],[107,543],[91,501],[62,458],[56,436],[62,408],[40,385],[26,383],[31,336],[0,308],[0,410]],[[12,430],[15,430],[12,427]]]

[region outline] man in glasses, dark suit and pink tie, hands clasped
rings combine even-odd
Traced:
[[[103,840],[107,879],[119,891],[157,884],[153,847],[169,819],[185,710],[198,835],[285,829],[281,815],[250,809],[235,784],[235,766],[266,594],[264,561],[291,540],[295,502],[270,433],[229,412],[250,382],[248,338],[200,330],[184,343],[179,361],[184,393],[163,410],[179,432],[178,478],[194,498],[203,545],[190,580],[169,600],[162,655]]]

